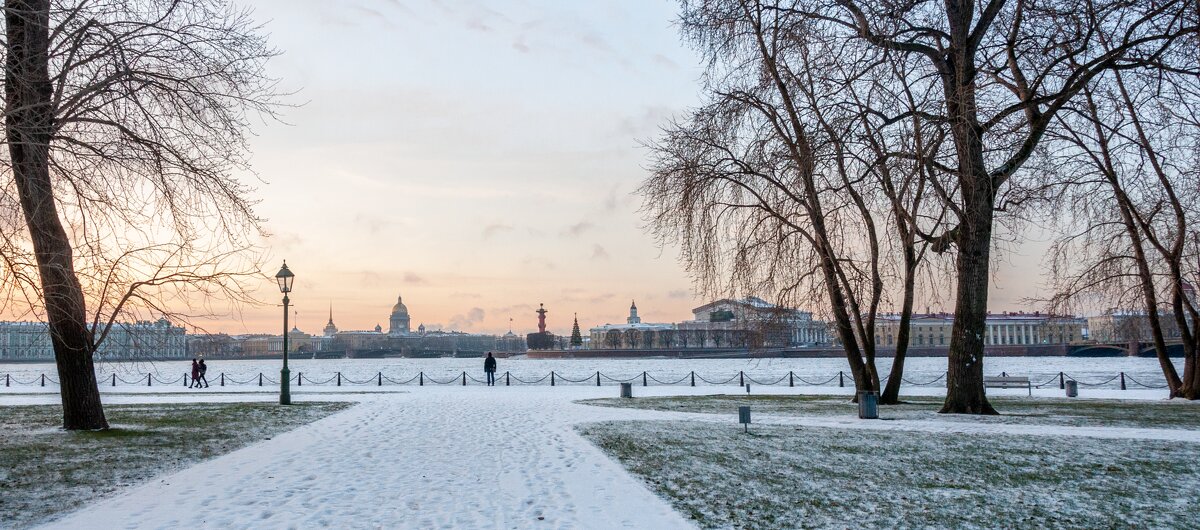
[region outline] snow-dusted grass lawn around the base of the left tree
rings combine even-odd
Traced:
[[[62,430],[56,405],[0,408],[0,528],[23,528],[77,510],[349,405],[108,405],[113,428],[106,432]]]

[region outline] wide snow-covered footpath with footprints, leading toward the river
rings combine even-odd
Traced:
[[[572,428],[662,414],[557,390],[343,396],[361,403],[47,528],[692,528]]]

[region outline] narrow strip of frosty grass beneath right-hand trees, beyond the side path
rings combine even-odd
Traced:
[[[881,405],[880,417],[892,420],[941,420],[983,423],[1056,424],[1070,427],[1139,427],[1200,429],[1200,403],[1170,400],[1067,399],[992,397],[1000,416],[937,414],[941,398],[906,397],[899,405]],[[782,416],[856,416],[858,405],[842,396],[716,395],[606,398],[581,403],[600,406],[671,410],[680,412],[737,414],[738,405],[754,412]]]

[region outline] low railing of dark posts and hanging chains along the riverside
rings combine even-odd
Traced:
[[[911,380],[907,378],[901,379],[901,386],[937,386],[946,384],[946,372],[941,375],[930,380]],[[1007,377],[1007,372],[1001,373],[1002,377]],[[442,373],[437,377],[427,374],[425,372],[419,372],[415,375],[406,378],[403,375],[391,377],[384,374],[383,372],[377,372],[370,377],[359,375],[362,379],[353,379],[347,377],[342,372],[335,372],[332,374],[324,373],[322,375],[312,377],[306,375],[304,372],[296,372],[292,375],[289,380],[295,383],[296,386],[468,386],[470,385],[485,385],[485,379],[478,379],[472,373],[462,372],[458,374],[446,374]],[[811,375],[810,375],[811,378]],[[208,379],[209,386],[265,386],[265,385],[278,385],[278,378],[271,378],[265,373],[259,372],[258,374],[246,375],[240,374],[234,377],[221,372],[216,377]],[[887,384],[888,378],[882,378],[880,385]],[[53,374],[31,374],[31,373],[0,373],[0,381],[4,381],[5,387],[13,386],[56,386],[59,384],[58,379]],[[469,383],[468,383],[469,381]],[[763,375],[758,374],[754,377],[748,374],[745,371],[739,371],[732,375],[709,375],[698,374],[696,372],[689,372],[679,375],[678,372],[670,374],[659,373],[658,377],[649,372],[642,372],[641,374],[635,374],[632,377],[617,378],[612,375],[606,375],[602,372],[594,372],[587,374],[568,374],[558,373],[557,371],[551,371],[548,374],[541,377],[526,375],[524,378],[514,374],[512,372],[504,372],[503,374],[497,373],[496,385],[500,386],[559,386],[559,385],[594,385],[602,386],[605,383],[610,385],[618,385],[622,383],[638,384],[641,386],[745,386],[752,384],[756,386],[833,386],[836,381],[836,386],[846,387],[847,385],[854,386],[854,378],[851,373],[845,371],[839,371],[828,378],[812,378],[806,379],[800,377],[794,371],[787,373]],[[1166,384],[1153,385],[1139,381],[1132,375],[1120,372],[1110,378],[1099,377],[1093,380],[1081,380],[1072,377],[1070,374],[1058,372],[1057,374],[1050,377],[1042,383],[1033,383],[1031,385],[1034,389],[1043,389],[1048,386],[1058,386],[1058,389],[1064,389],[1067,381],[1075,381],[1079,386],[1084,387],[1115,387],[1120,390],[1128,390],[1130,386],[1140,389],[1166,389]],[[103,378],[98,378],[98,383],[103,386],[115,387],[115,386],[175,386],[182,385],[187,387],[191,383],[190,374],[181,374],[178,378],[169,378],[162,373],[149,372],[145,375],[140,374],[125,374],[119,375],[116,373],[108,374]]]

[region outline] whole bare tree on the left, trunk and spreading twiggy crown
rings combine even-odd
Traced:
[[[224,0],[7,0],[5,23],[4,200],[23,223],[2,225],[4,281],[44,312],[64,427],[104,428],[92,355],[118,315],[238,299],[257,270],[232,171],[277,109],[276,52]]]

